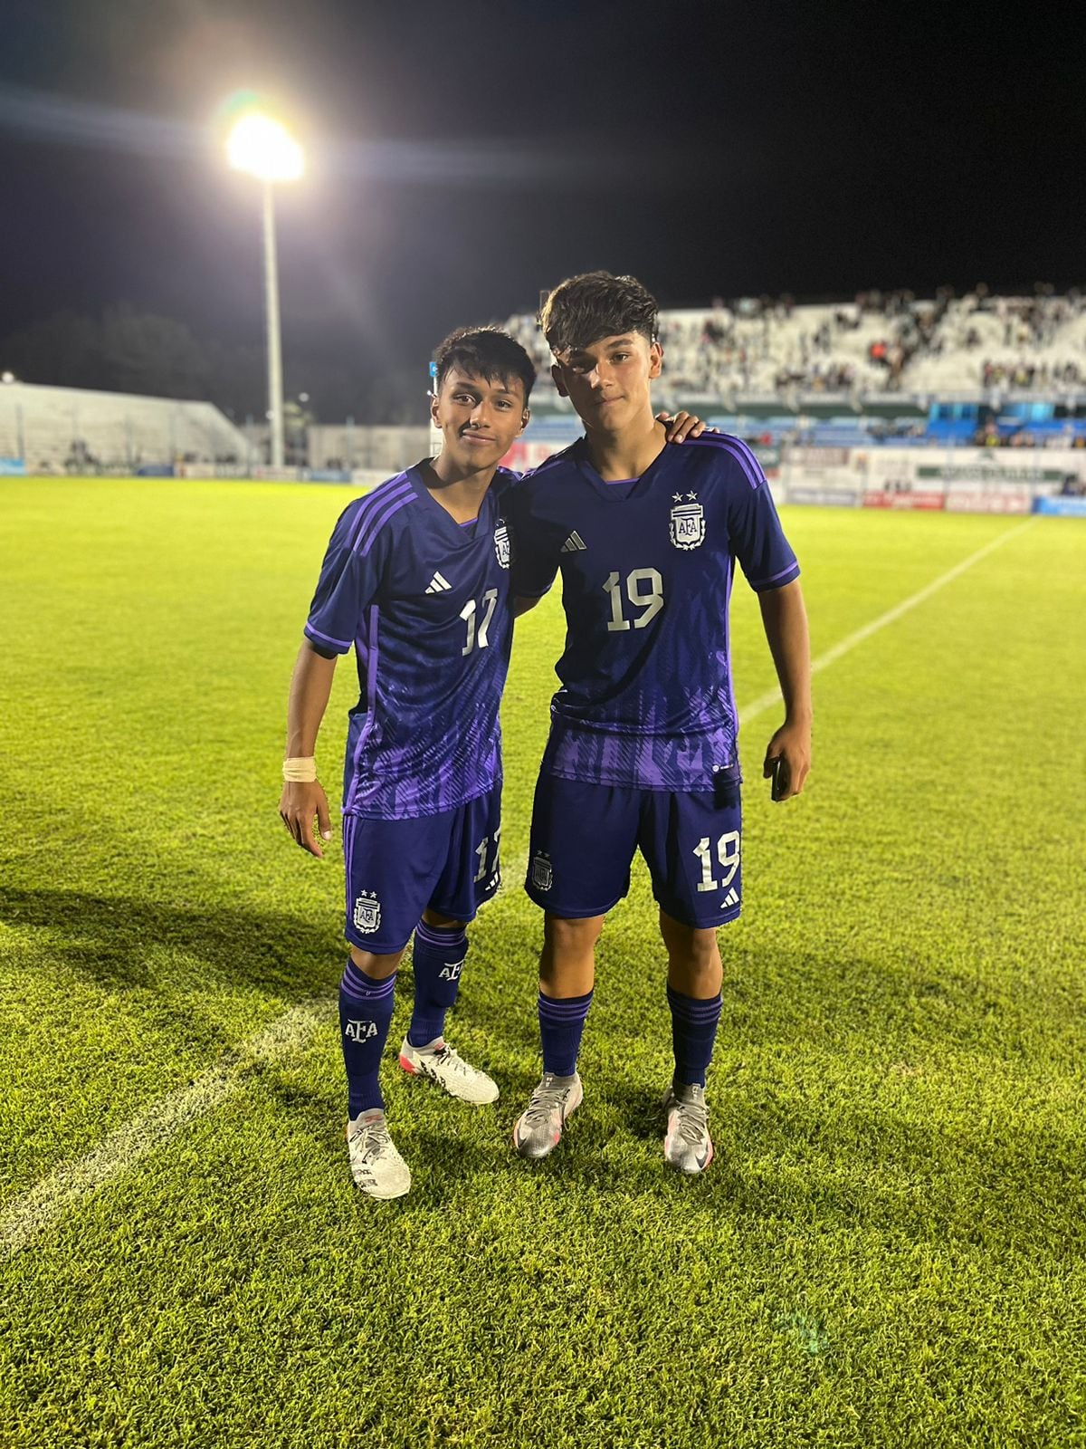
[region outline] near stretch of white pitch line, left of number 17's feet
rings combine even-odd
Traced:
[[[291,1007],[262,1032],[240,1042],[229,1059],[197,1077],[191,1087],[145,1107],[85,1156],[62,1162],[29,1193],[10,1203],[0,1217],[0,1261],[29,1248],[80,1198],[127,1172],[149,1152],[171,1142],[187,1123],[233,1097],[242,1087],[248,1064],[278,1062],[300,1051],[326,1017],[326,1009],[313,1001]]]

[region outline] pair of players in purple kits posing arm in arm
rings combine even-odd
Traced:
[[[669,956],[675,1075],[665,1153],[688,1172],[712,1158],[704,1084],[720,1016],[715,926],[734,919],[740,901],[727,648],[736,556],[760,593],[786,704],[766,769],[780,769],[786,797],[809,765],[798,565],[753,455],[730,438],[665,454],[668,436],[686,436],[696,420],[665,430],[653,417],[656,304],[631,278],[563,283],[544,330],[585,439],[514,487],[498,461],[529,420],[531,362],[501,333],[455,333],[437,354],[442,454],[343,513],[295,667],[281,814],[320,855],[314,814],[326,839],[330,826],[313,751],[334,659],[352,643],[358,655],[343,819],[352,952],[340,1024],[352,1172],[374,1197],[410,1187],[378,1066],[413,929],[416,1001],[401,1066],[468,1101],[498,1095],[447,1046],[443,1023],[465,927],[498,884],[511,520],[521,607],[560,567],[569,626],[531,832],[529,894],[546,911],[544,1071],[514,1130],[521,1155],[550,1152],[581,1101],[576,1053],[595,940],[640,846]]]

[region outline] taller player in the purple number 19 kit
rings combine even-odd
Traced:
[[[517,610],[562,569],[566,645],[531,820],[527,893],[544,910],[543,1078],[514,1127],[543,1158],[582,1100],[576,1058],[604,916],[640,848],[660,909],[675,1072],[665,1158],[712,1161],[705,1072],[721,1009],[717,926],[740,913],[740,771],[728,658],[734,561],[757,591],[785,701],[765,774],[799,794],[811,762],[799,565],[750,449],[705,433],[665,448],[656,301],[633,277],[589,272],[550,293],[552,374],[585,436],[511,498]]]

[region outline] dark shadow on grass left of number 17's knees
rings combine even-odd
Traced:
[[[107,987],[153,990],[161,964],[152,953],[174,951],[200,964],[200,980],[301,1001],[334,991],[346,955],[334,922],[317,927],[298,914],[235,906],[0,887],[0,922],[46,932],[43,955],[62,955]]]

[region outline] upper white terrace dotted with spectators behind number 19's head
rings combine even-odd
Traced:
[[[540,371],[550,365],[531,317],[514,335]],[[849,304],[792,297],[715,298],[660,313],[665,391],[696,397],[805,394],[1086,391],[1086,296],[1038,285],[1030,297],[977,285],[860,293]],[[977,358],[977,354],[980,356]]]

